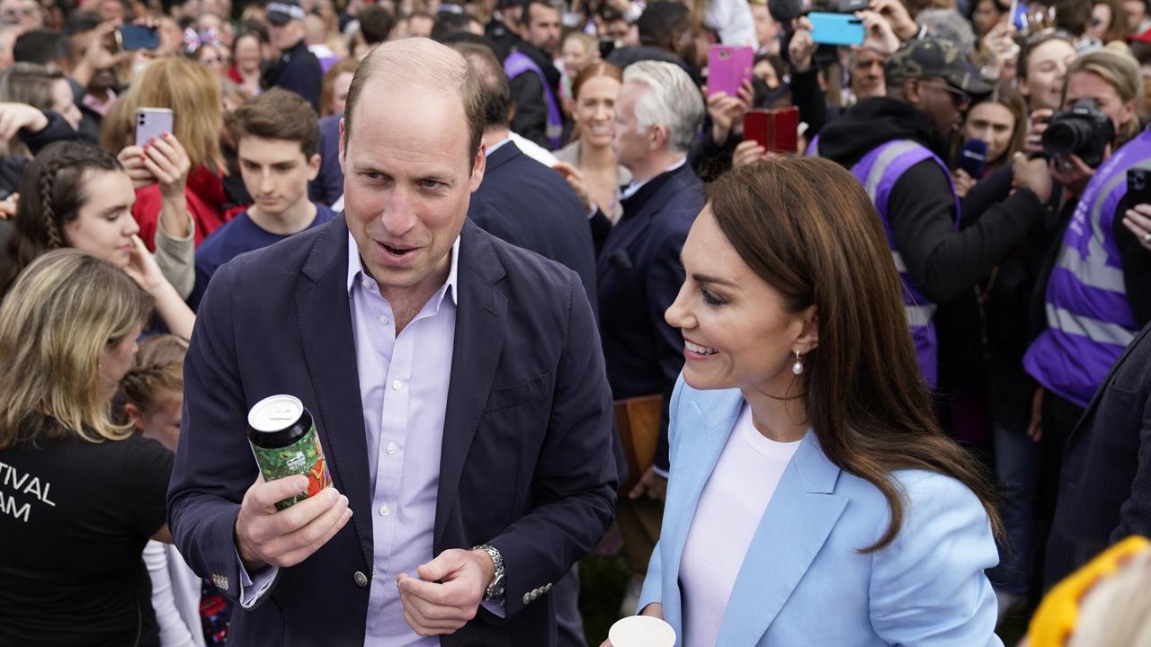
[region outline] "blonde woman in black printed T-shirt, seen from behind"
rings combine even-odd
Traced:
[[[0,645],[158,646],[140,554],[171,541],[171,452],[109,416],[152,299],[41,254],[0,305]]]

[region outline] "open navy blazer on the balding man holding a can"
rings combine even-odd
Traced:
[[[234,524],[257,477],[245,420],[269,395],[292,394],[312,412],[333,482],[353,511],[315,554],[280,569],[253,609],[236,606],[229,642],[237,646],[364,642],[372,493],[348,245],[338,216],[237,257],[213,276],[192,334],[168,492],[173,536],[192,570],[238,595]],[[574,273],[467,221],[457,272],[434,550],[498,548],[506,619],[481,608],[442,644],[550,646],[551,596],[528,594],[590,553],[618,487],[595,321]]]

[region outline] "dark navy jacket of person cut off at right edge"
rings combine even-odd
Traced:
[[[1111,368],[1067,441],[1044,585],[1133,534],[1151,535],[1151,325]]]

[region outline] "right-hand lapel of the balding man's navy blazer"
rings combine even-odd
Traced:
[[[496,151],[500,153],[502,151]],[[471,220],[464,222],[457,268],[456,343],[448,381],[448,404],[440,455],[434,547],[441,541],[459,493],[464,460],[487,405],[503,349],[506,297],[495,284],[504,275],[490,239]]]

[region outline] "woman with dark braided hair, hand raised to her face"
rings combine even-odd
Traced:
[[[44,252],[76,248],[127,271],[155,300],[168,330],[191,336],[196,315],[137,236],[136,192],[114,155],[90,144],[52,144],[29,165],[20,193],[0,297]]]

